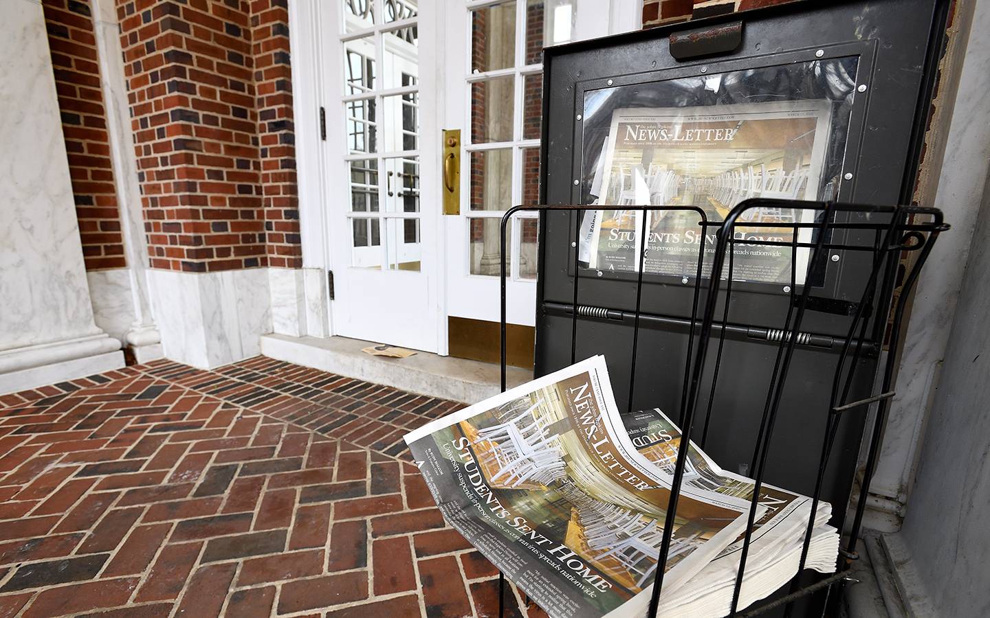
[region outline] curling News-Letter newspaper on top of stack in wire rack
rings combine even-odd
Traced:
[[[633,444],[612,393],[596,356],[406,437],[446,521],[553,618],[648,605],[670,480]],[[663,596],[739,538],[748,506],[682,493]]]

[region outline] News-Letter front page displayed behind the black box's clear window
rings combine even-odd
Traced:
[[[715,230],[706,234],[697,213],[622,207],[690,206],[701,209],[708,221],[723,221],[747,198],[819,199],[831,110],[828,102],[816,100],[616,110],[591,192],[593,203],[614,209],[585,216],[580,254],[590,268],[637,271],[645,248],[644,272],[691,277],[704,243],[702,274],[707,277]],[[793,228],[787,225],[813,218],[811,211],[747,211],[736,237],[790,242]],[[747,221],[780,226],[746,227]],[[805,229],[799,236],[807,242],[811,232]],[[800,248],[795,256],[798,285],[804,283],[808,252]],[[786,246],[741,242],[733,278],[790,283],[791,253]]]

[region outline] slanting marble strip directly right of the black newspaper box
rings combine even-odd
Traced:
[[[936,204],[952,229],[940,236],[918,282],[906,346],[870,492],[910,494],[933,387],[945,358],[963,268],[990,158],[990,3],[977,3],[952,111]],[[982,239],[980,239],[982,241]]]

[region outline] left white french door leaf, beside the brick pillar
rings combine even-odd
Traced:
[[[331,306],[335,334],[438,351],[436,4],[418,4],[322,5]]]

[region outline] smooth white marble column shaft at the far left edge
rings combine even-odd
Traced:
[[[0,5],[0,350],[93,322],[41,4]]]

